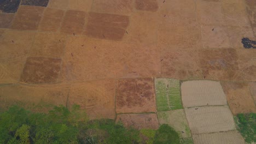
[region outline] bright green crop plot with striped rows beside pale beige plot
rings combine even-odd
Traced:
[[[155,79],[158,111],[182,109],[180,85],[174,79]]]

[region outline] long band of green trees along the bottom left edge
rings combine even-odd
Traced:
[[[179,143],[167,124],[158,130],[125,128],[112,119],[89,120],[78,105],[49,113],[33,113],[18,106],[0,112],[0,143]]]

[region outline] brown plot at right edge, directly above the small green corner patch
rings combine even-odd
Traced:
[[[246,82],[222,82],[230,110],[237,113],[256,112],[256,106]]]

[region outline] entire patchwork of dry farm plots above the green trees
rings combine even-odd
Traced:
[[[254,0],[0,1],[0,108],[79,104],[182,143],[245,143],[255,16]]]

